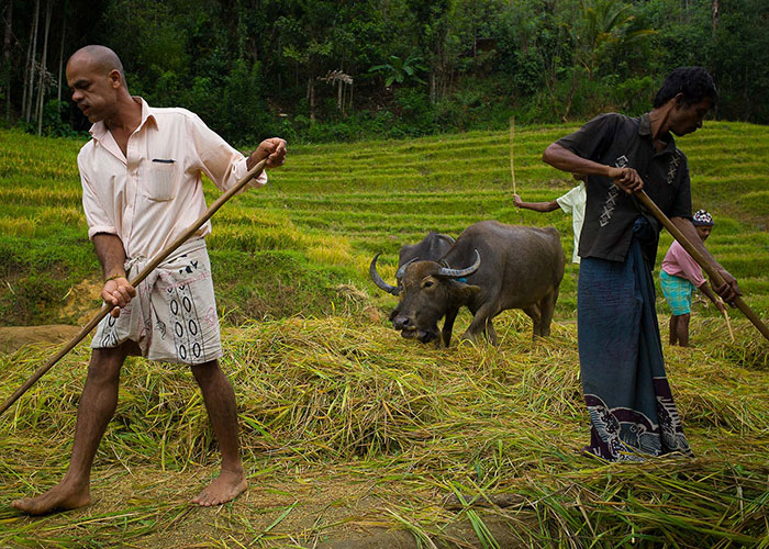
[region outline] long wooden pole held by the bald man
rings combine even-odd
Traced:
[[[155,270],[155,268],[160,265],[168,256],[170,256],[179,246],[185,244],[190,236],[192,236],[211,216],[216,213],[216,211],[224,205],[224,203],[234,197],[238,191],[252,180],[252,178],[257,177],[265,169],[265,164],[267,164],[267,158],[254,166],[248,173],[243,176],[243,178],[235,183],[235,186],[226,191],[224,194],[219,197],[216,201],[209,208],[205,213],[196,221],[187,231],[185,231],[176,240],[169,244],[166,249],[160,251],[155,258],[147,264],[147,266],[140,272],[135,279],[131,281],[131,285],[136,288],[140,282],[142,282],[147,276]],[[58,362],[67,352],[73,350],[77,344],[79,344],[96,326],[99,322],[109,314],[110,311],[114,309],[113,305],[104,304],[101,310],[86,324],[86,326],[73,337],[67,345],[65,345],[56,355],[54,355],[44,366],[38,368],[35,373],[27,379],[22,386],[20,386],[15,393],[8,397],[8,400],[0,407],[0,415],[3,414],[8,408],[10,408],[19,397],[24,394],[32,385],[34,385],[38,379],[41,379],[53,366]]]

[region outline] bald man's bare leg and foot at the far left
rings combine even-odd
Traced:
[[[55,509],[74,509],[90,503],[91,466],[99,441],[118,405],[120,369],[129,349],[129,345],[114,349],[93,349],[88,365],[86,386],[78,405],[75,442],[67,473],[56,486],[44,494],[16,500],[11,503],[12,506],[30,515],[42,515]]]

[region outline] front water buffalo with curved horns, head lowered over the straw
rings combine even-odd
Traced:
[[[454,321],[465,305],[472,322],[462,338],[475,341],[486,333],[497,343],[492,318],[508,309],[522,309],[534,322],[534,336],[548,336],[565,257],[555,227],[536,228],[482,221],[469,226],[439,261],[416,260],[399,269],[398,287],[376,273],[379,288],[400,296],[392,318],[403,337],[430,343],[438,338],[438,321],[446,347]],[[452,268],[452,266],[459,268]]]

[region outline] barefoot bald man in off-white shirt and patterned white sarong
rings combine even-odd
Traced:
[[[222,453],[220,474],[193,503],[220,505],[246,489],[239,458],[235,393],[219,366],[222,347],[205,223],[137,288],[129,279],[205,212],[201,175],[222,191],[253,166],[286,159],[286,142],[265,139],[245,157],[193,113],[151,108],[132,97],[123,66],[104,46],[87,46],[67,63],[67,82],[93,123],[78,168],[88,235],[102,266],[102,298],[114,306],[97,328],[78,405],[69,468],[53,489],[12,505],[38,515],[90,502],[90,471],[118,404],[120,370],[130,355],[189,365]],[[263,173],[250,183],[267,182]]]

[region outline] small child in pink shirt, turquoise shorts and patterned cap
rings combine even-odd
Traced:
[[[713,225],[715,225],[711,214],[704,210],[698,210],[694,213],[692,224],[702,242],[707,239]],[[702,268],[677,240],[673,240],[665,255],[662,269],[659,271],[659,282],[662,294],[672,312],[670,316],[670,345],[689,346],[689,318],[691,317],[691,296],[694,289],[704,293],[720,311],[725,311],[724,303],[716,298],[702,276]]]

